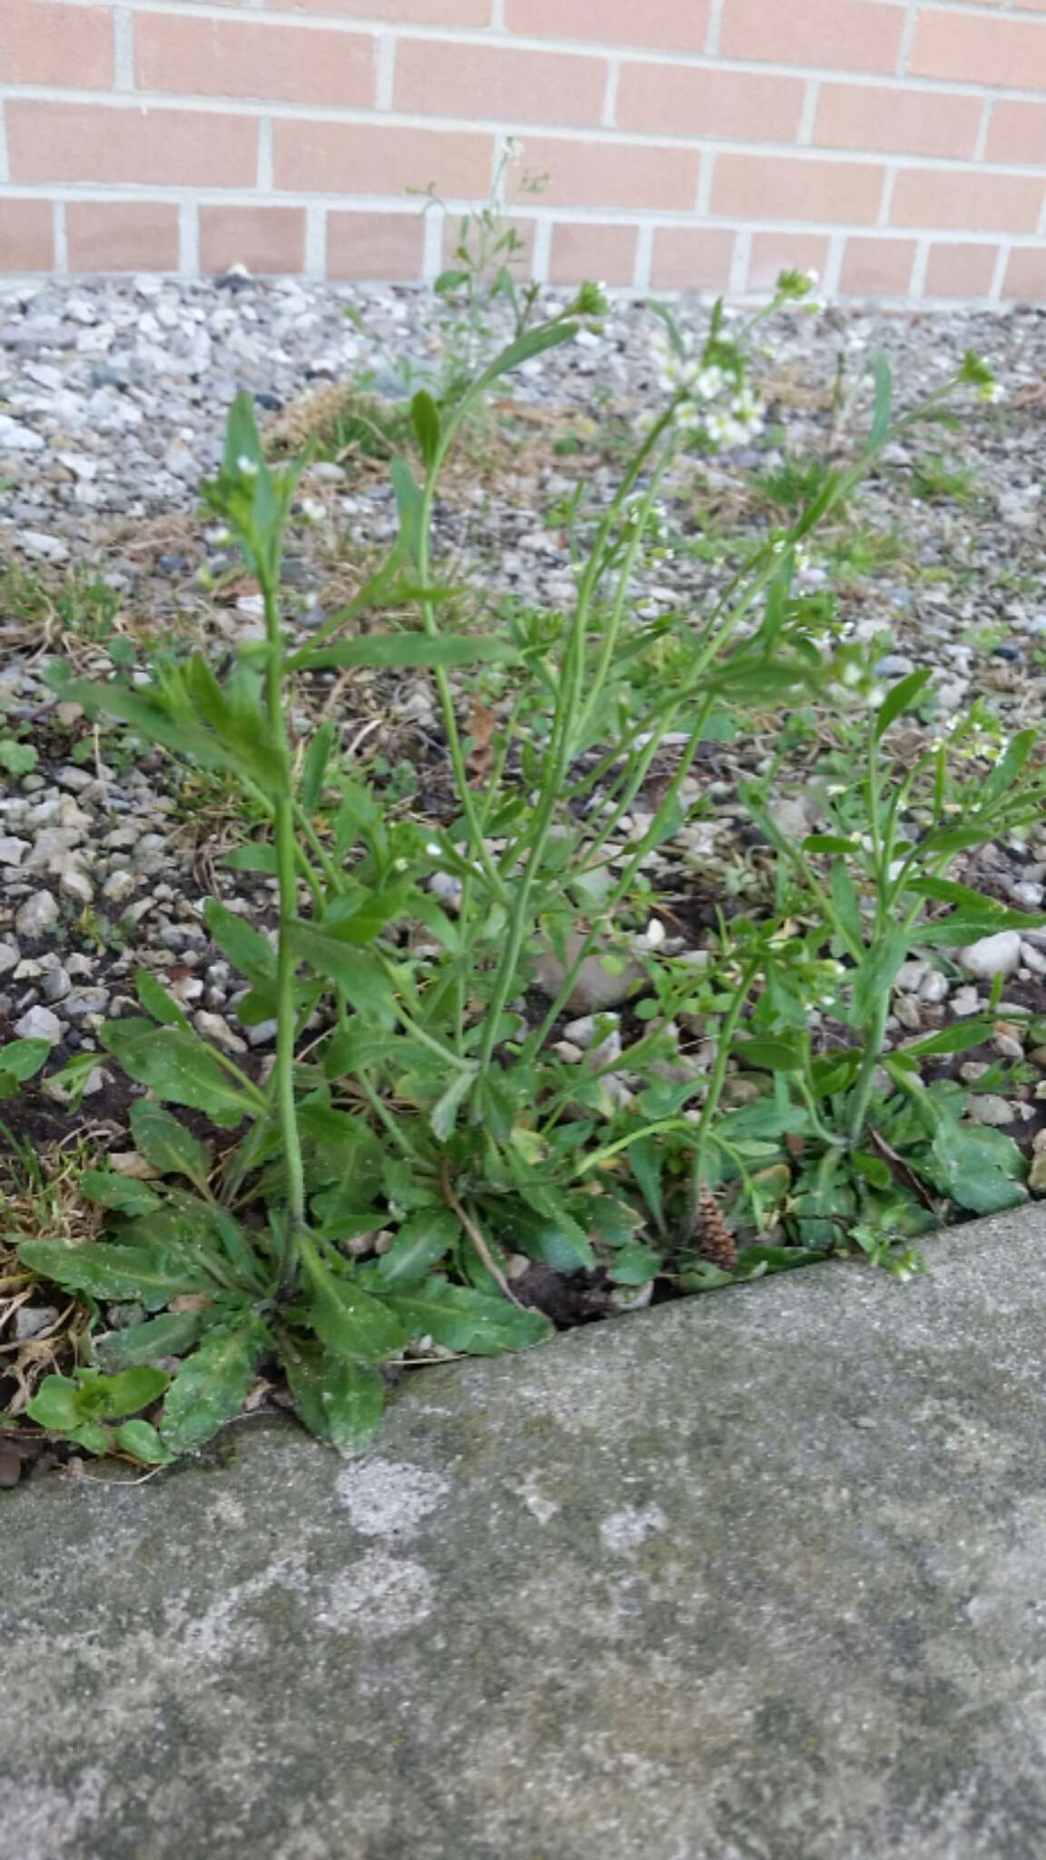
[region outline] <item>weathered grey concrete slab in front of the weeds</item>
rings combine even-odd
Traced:
[[[1046,1853],[1046,1216],[4,1497],[2,1860]]]

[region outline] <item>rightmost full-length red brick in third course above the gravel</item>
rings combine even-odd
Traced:
[[[823,149],[972,156],[981,128],[979,97],[903,91],[878,84],[825,84],[813,125]]]

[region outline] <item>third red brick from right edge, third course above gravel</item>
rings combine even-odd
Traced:
[[[618,126],[726,141],[795,141],[804,97],[802,78],[627,63],[618,82]]]

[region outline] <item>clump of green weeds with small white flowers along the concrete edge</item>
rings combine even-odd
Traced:
[[[772,307],[808,288],[787,273]],[[101,1038],[147,1094],[130,1127],[156,1176],[95,1170],[84,1192],[108,1209],[106,1237],[20,1246],[28,1269],[84,1300],[138,1308],[95,1335],[89,1365],[47,1378],[30,1406],[87,1451],[115,1445],[164,1462],[195,1449],[272,1363],[302,1421],[357,1451],[382,1415],[383,1363],[493,1354],[549,1334],[514,1291],[519,1256],[599,1272],[629,1304],[661,1274],[700,1289],[823,1257],[851,1231],[897,1263],[897,1233],[921,1216],[912,1183],[925,1202],[938,1190],[966,1207],[1024,1194],[1009,1140],[968,1125],[957,1138],[955,1092],[919,1079],[925,1053],[985,1038],[983,1023],[886,1051],[886,1012],[912,950],[1044,921],[945,876],[957,854],[1040,809],[1033,738],[1014,738],[970,787],[953,774],[959,733],[899,777],[888,733],[925,701],[925,673],[877,690],[862,653],[826,625],[823,597],[795,588],[802,547],[882,448],[957,387],[990,391],[990,376],[968,357],[927,404],[893,417],[880,363],[854,463],[819,474],[800,515],[754,551],[707,614],[644,618],[633,580],[679,456],[733,445],[761,422],[748,383],[761,318],[737,339],[718,309],[692,348],[663,311],[664,407],[607,508],[575,525],[571,610],[516,610],[495,634],[454,631],[447,616],[462,591],[439,580],[432,549],[443,465],[501,376],[599,312],[599,292],[584,286],[465,392],[445,404],[415,394],[422,476],[402,458],[391,467],[396,541],[352,604],[309,636],[281,616],[303,461],[266,459],[240,396],[203,495],[257,578],[264,642],[242,647],[223,677],[194,657],[158,662],[147,686],[61,683],[240,783],[251,818],[268,826],[227,863],[275,880],[279,902],[274,934],[218,900],[205,906],[212,939],[249,986],[240,1019],[277,1023],[272,1070],[249,1071],[199,1038],[141,971],[141,1016]],[[380,629],[404,608],[417,631]],[[331,668],[432,673],[452,800],[424,822],[383,807],[331,722],[311,735],[290,724],[298,690]],[[687,820],[702,742],[744,711],[765,718],[839,692],[864,705],[867,731],[864,768],[834,800],[830,830],[787,839],[752,787],[746,804],[776,852],[772,911],[722,921],[700,965],[664,954],[644,872]],[[482,779],[463,722],[476,699],[495,718]],[[666,742],[677,746],[670,777],[627,837]],[[557,1051],[557,1030],[592,963],[635,980],[638,1030],[620,1053],[601,1040],[612,1023],[597,1023],[579,1066]],[[813,1047],[815,1006],[847,1029],[845,1042]],[[704,1029],[698,1064],[679,1053],[677,1016]],[[0,1049],[0,1090],[37,1062],[32,1042]],[[737,1062],[759,1083],[754,1103],[728,1090]],[[61,1075],[71,1094],[87,1064]],[[171,1105],[203,1112],[218,1140]],[[735,1267],[698,1256],[713,1192],[752,1235]],[[771,1220],[784,1241],[765,1244]],[[134,1419],[134,1406],[151,1406],[153,1421]]]

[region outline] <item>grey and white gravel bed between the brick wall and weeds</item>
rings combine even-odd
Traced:
[[[173,783],[171,766],[145,753],[108,763],[108,744],[78,707],[50,690],[45,668],[67,651],[78,670],[101,675],[121,655],[134,662],[145,636],[195,636],[216,653],[257,636],[253,593],[235,584],[216,591],[233,562],[195,502],[195,485],[218,458],[227,402],[246,387],[275,430],[292,432],[296,418],[307,426],[302,396],[329,394],[348,376],[367,374],[380,392],[402,392],[393,357],[409,357],[417,370],[432,366],[432,299],[419,290],[339,292],[244,275],[208,285],[136,279],[0,288],[0,562],[7,571],[0,580],[0,737],[32,729],[41,751],[30,774],[7,777],[0,798],[4,1036],[43,1036],[56,1058],[91,1051],[104,1017],[130,1010],[132,975],[145,965],[203,1034],[246,1055],[246,1064],[264,1060],[274,1029],[236,1021],[240,984],[208,945],[199,906],[218,889],[233,908],[272,921],[270,882],[223,874],[216,852],[225,826],[214,796]],[[620,459],[594,446],[592,432],[614,417],[627,430],[655,404],[650,333],[650,312],[620,301],[599,331],[523,370],[514,439],[497,454],[497,471],[475,484],[458,472],[439,508],[441,543],[462,577],[482,580],[491,595],[570,599],[570,538],[545,513],[579,476],[596,497],[612,489]],[[960,430],[931,437],[938,476],[945,467],[964,474],[959,493],[919,476],[916,448],[893,448],[860,502],[865,556],[839,569],[838,560],[832,567],[815,554],[806,584],[839,582],[858,636],[882,636],[884,679],[931,666],[942,714],[983,696],[1018,727],[1042,716],[1046,681],[1046,312],[784,316],[767,333],[763,385],[789,450],[825,450],[838,437],[839,392],[845,400],[873,350],[886,352],[899,400],[910,404],[966,348],[992,363],[1007,398],[999,407],[968,409]],[[573,439],[558,450],[549,443],[564,435],[577,439],[573,454]],[[780,446],[759,446],[700,472],[691,461],[666,493],[670,528],[694,543],[711,523],[728,541],[720,552],[676,549],[650,560],[637,599],[650,610],[696,604],[722,580],[730,538],[780,521],[754,495],[752,474],[782,458]],[[337,599],[339,575],[348,571],[339,539],[348,536],[359,554],[395,528],[380,467],[324,459],[307,474],[305,491],[309,526],[287,575],[288,614],[303,631]],[[890,551],[877,539],[892,532]],[[865,560],[869,538],[875,560]],[[26,577],[52,593],[32,614]],[[69,577],[97,582],[102,593],[69,606]],[[97,614],[95,629],[84,625],[84,606]],[[365,684],[346,703],[346,740],[363,731],[369,753],[383,746],[408,764],[439,761],[424,681],[398,688],[393,724],[367,699]],[[731,768],[711,776],[722,818],[683,830],[677,848],[679,870],[700,870],[705,902],[709,887],[715,893],[711,854],[739,833]],[[806,802],[793,794],[780,805],[802,817]],[[705,859],[702,869],[704,854],[711,865]],[[1046,831],[988,848],[983,867],[996,895],[1039,908]],[[683,911],[681,923],[683,941],[696,937],[700,910]],[[983,973],[951,965],[951,973],[934,971],[929,986],[925,965],[910,963],[897,1030],[972,1012],[996,969],[1020,1004],[1044,1014],[1044,950],[1039,936],[1011,939],[981,958]],[[1039,1129],[1029,1086],[1012,1103],[992,1107],[985,1096],[983,1112],[985,1122]],[[121,1088],[102,1064],[86,1114],[115,1140]],[[47,1084],[19,1107],[15,1123],[34,1142],[71,1129]]]

